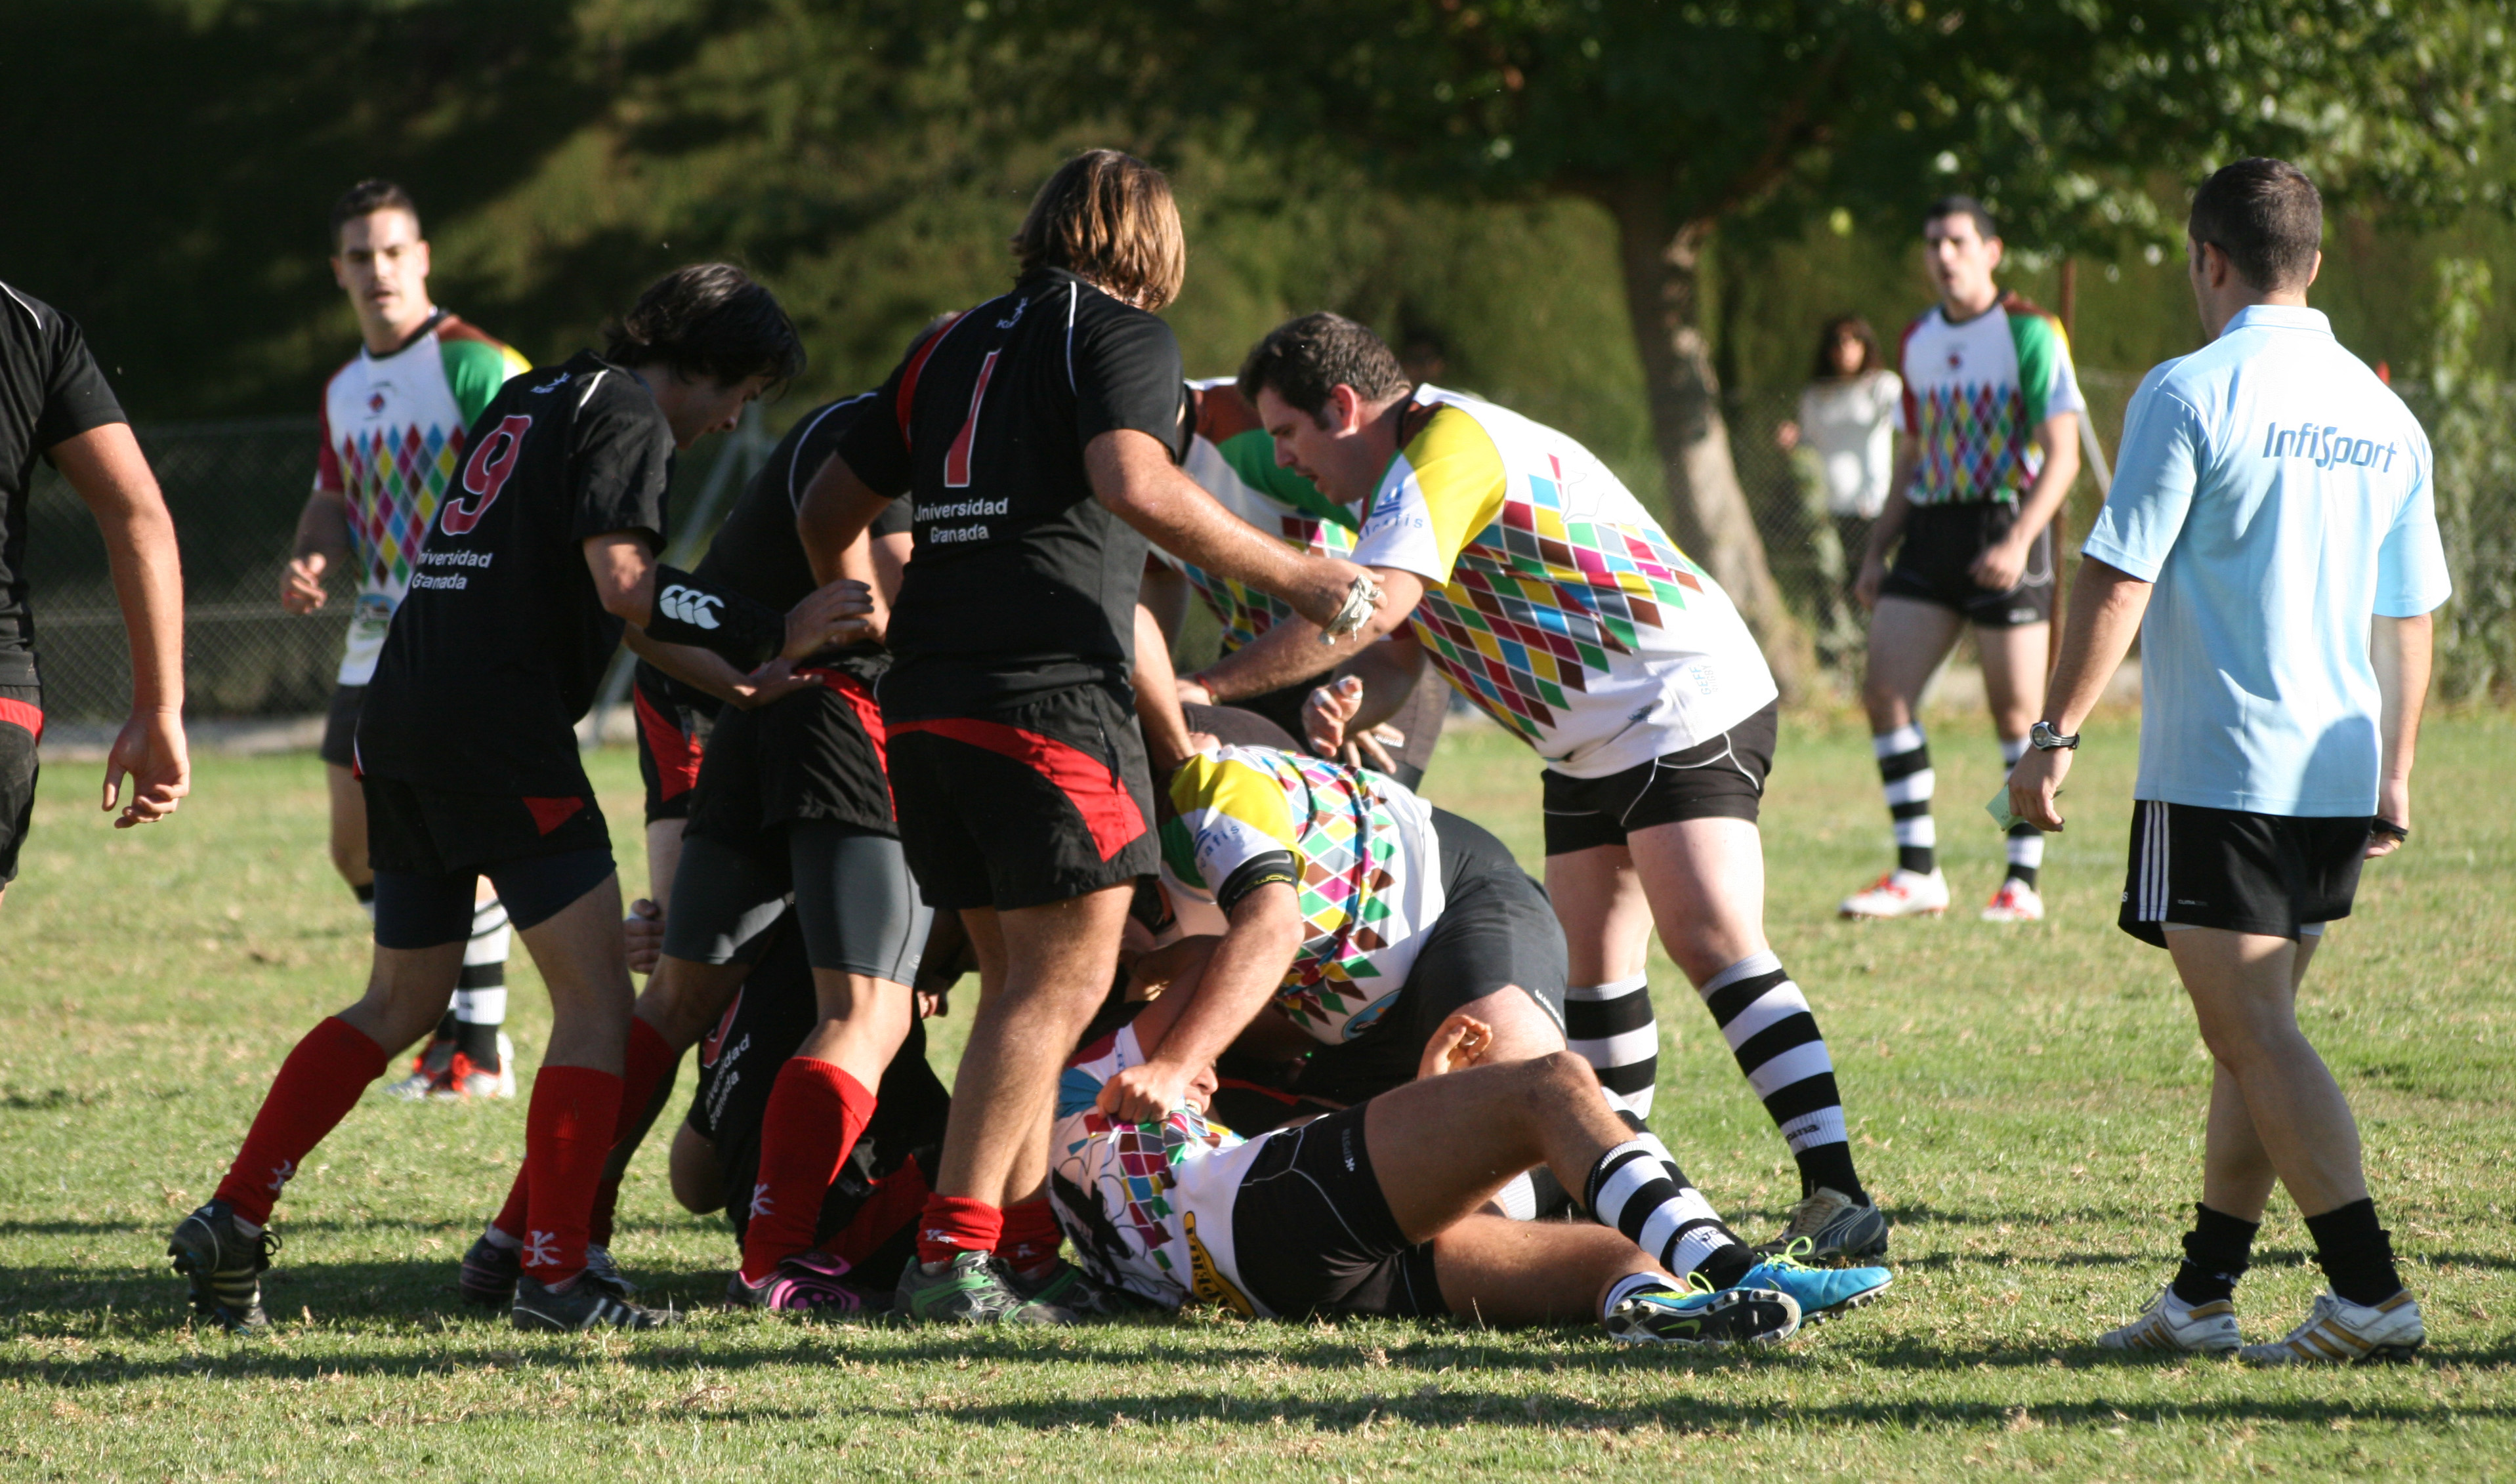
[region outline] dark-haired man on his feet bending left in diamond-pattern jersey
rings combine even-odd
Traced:
[[[1417,654],[1547,762],[1547,895],[1572,956],[1572,1049],[1650,1114],[1658,1021],[1643,961],[1658,923],[1799,1162],[1801,1200],[1769,1248],[1884,1253],[1887,1217],[1854,1170],[1834,1061],[1764,938],[1756,807],[1776,689],[1728,596],[1585,448],[1411,385],[1351,319],[1278,327],[1240,390],[1281,463],[1364,511],[1354,561],[1384,601],[1331,646],[1276,624],[1208,684],[1268,692],[1411,624]],[[1389,689],[1354,679],[1311,697],[1313,747],[1381,719]]]

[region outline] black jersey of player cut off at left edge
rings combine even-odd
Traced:
[[[123,405],[78,324],[0,284],[0,684],[35,684],[35,611],[25,589],[35,460],[106,423],[123,423]]]

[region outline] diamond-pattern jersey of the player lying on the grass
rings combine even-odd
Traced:
[[[1102,1283],[1162,1308],[1220,1303],[1266,1315],[1233,1263],[1233,1202],[1263,1139],[1245,1142],[1190,1107],[1140,1124],[1102,1114],[1102,1084],[1142,1064],[1130,1024],[1077,1051],[1059,1077],[1049,1129],[1057,1225]]]

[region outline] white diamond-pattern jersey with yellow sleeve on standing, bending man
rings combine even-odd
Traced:
[[[1419,387],[1432,418],[1371,496],[1354,561],[1411,571],[1432,664],[1557,772],[1605,777],[1774,699],[1728,594],[1552,428]]]

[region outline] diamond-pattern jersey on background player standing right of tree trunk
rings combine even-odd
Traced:
[[[2035,430],[2088,407],[2061,319],[2018,294],[1962,324],[1932,307],[1900,360],[1902,430],[1922,453],[1905,488],[1915,506],[2023,498],[2043,468]]]

